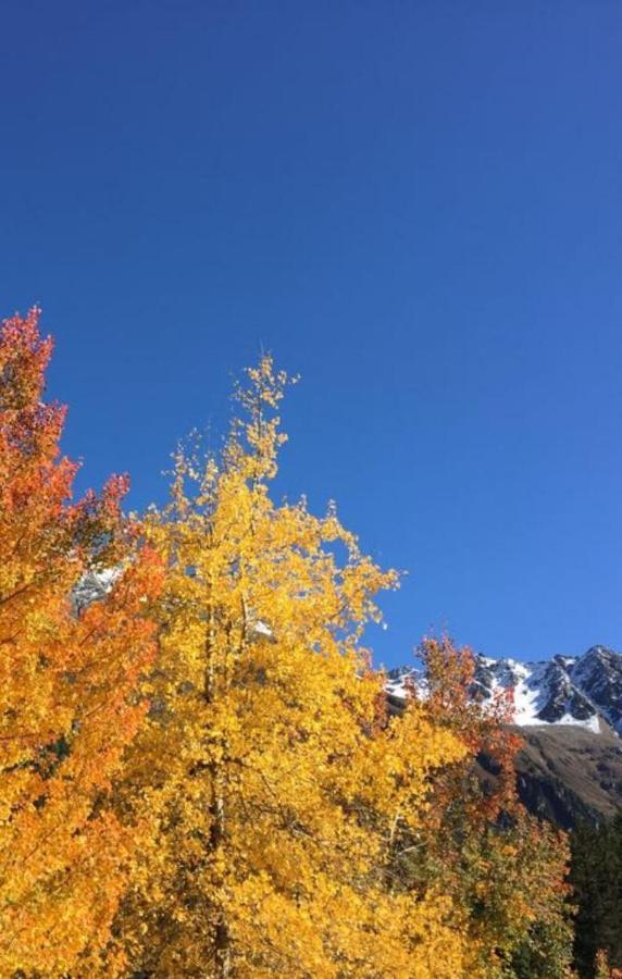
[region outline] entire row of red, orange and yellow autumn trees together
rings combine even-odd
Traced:
[[[287,376],[248,370],[223,451],[127,518],[125,480],[72,500],[50,352],[37,311],[2,325],[0,977],[570,976],[508,705],[426,641],[389,717],[365,635],[398,577],[271,496]]]

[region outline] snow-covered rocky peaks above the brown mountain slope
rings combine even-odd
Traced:
[[[416,669],[387,674],[389,698],[403,701],[410,684],[422,691]],[[539,662],[489,659],[476,655],[473,696],[483,703],[498,690],[513,690],[514,722],[574,724],[595,733],[622,736],[622,653],[592,646],[583,656],[553,656]]]

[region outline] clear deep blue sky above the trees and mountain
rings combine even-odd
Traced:
[[[4,0],[1,314],[161,499],[261,347],[279,492],[407,568],[377,660],[622,646],[622,7]]]

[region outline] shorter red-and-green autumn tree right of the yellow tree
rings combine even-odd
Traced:
[[[568,845],[519,801],[512,693],[482,703],[473,654],[448,636],[425,640],[419,655],[422,708],[468,751],[432,774],[428,818],[423,830],[406,832],[400,872],[415,889],[443,880],[469,935],[470,975],[570,976]]]

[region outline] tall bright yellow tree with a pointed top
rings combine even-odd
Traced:
[[[334,507],[271,499],[286,384],[269,357],[250,369],[222,457],[179,451],[146,520],[166,584],[117,810],[151,835],[119,945],[153,977],[455,979],[451,901],[406,889],[390,851],[465,748],[415,704],[386,717],[362,641],[396,574]]]

